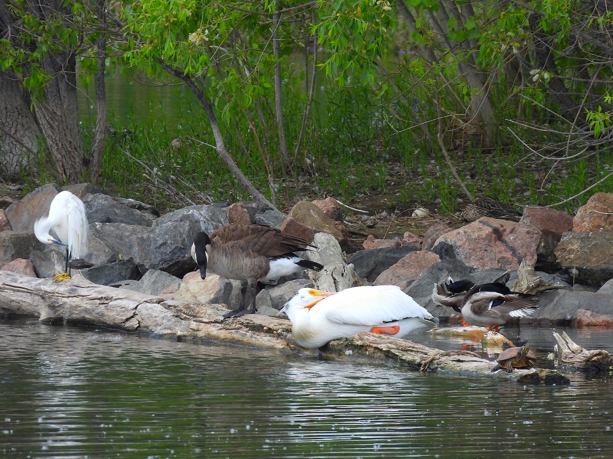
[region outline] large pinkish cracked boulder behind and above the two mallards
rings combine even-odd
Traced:
[[[436,240],[432,252],[457,258],[478,271],[517,269],[522,259],[536,263],[540,231],[523,223],[483,217]]]

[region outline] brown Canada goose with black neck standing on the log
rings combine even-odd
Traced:
[[[200,269],[200,277],[207,277],[207,269],[220,277],[241,281],[241,298],[237,310],[224,318],[242,316],[247,286],[251,293],[252,312],[256,312],[258,281],[268,282],[303,269],[321,271],[323,266],[295,255],[314,245],[300,237],[263,225],[226,225],[211,234],[197,233],[191,255]]]

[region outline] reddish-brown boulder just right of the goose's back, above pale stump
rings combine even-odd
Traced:
[[[343,231],[335,223],[338,222],[333,222],[326,217],[324,212],[315,204],[309,201],[300,201],[289,211],[280,230],[302,237],[309,242],[313,241],[315,233],[329,233],[337,239],[341,247],[346,247],[349,242],[348,234],[343,234]]]

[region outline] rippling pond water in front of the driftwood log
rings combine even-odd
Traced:
[[[586,348],[613,351],[607,330],[566,331]],[[442,338],[417,336],[443,347]],[[522,337],[539,363],[553,365],[544,362],[551,330],[522,327]],[[0,352],[0,457],[595,458],[613,450],[609,375],[520,386],[34,320],[0,322]]]

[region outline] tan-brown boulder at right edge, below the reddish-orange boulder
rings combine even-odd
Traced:
[[[555,249],[558,263],[576,270],[575,280],[601,286],[613,278],[613,230],[571,231],[564,234]]]

